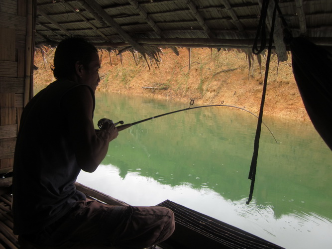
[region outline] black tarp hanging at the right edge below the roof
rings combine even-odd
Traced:
[[[332,149],[332,54],[304,38],[290,42],[293,73],[304,106]]]

